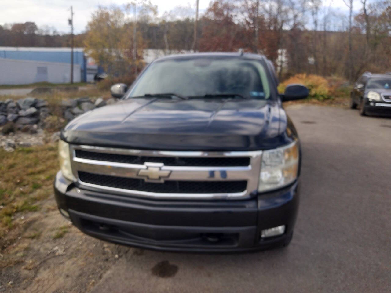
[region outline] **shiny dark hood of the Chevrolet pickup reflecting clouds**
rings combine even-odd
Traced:
[[[62,138],[141,149],[264,149],[285,142],[286,120],[274,101],[136,98],[75,118]]]

